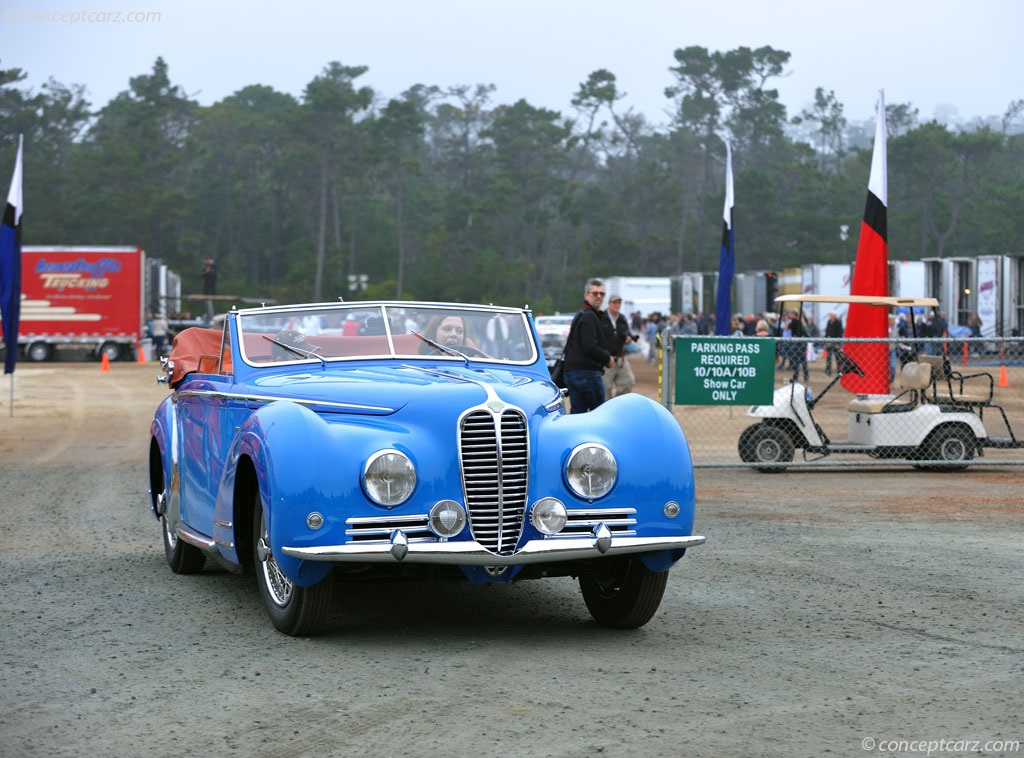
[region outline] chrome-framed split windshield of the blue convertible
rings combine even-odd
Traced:
[[[243,359],[253,366],[368,359],[532,364],[526,313],[494,306],[338,303],[239,312]]]

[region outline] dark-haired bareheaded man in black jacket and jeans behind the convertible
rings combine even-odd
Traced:
[[[583,298],[565,340],[565,388],[569,392],[571,413],[593,411],[604,403],[601,372],[612,365],[599,315],[604,300],[601,280],[587,282]]]

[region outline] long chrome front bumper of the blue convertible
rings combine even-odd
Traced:
[[[702,545],[705,538],[692,537],[612,537],[606,528],[587,537],[531,540],[512,555],[497,555],[478,542],[410,541],[395,532],[389,542],[359,542],[317,547],[284,547],[282,552],[304,560],[352,561],[361,563],[396,562],[449,563],[453,565],[524,565],[607,555],[654,553]]]

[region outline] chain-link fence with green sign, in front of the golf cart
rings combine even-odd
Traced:
[[[695,466],[1024,464],[1024,338],[663,334]]]

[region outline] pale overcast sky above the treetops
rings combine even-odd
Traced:
[[[153,15],[103,20],[133,11]],[[851,122],[873,119],[885,89],[923,120],[954,109],[971,123],[1024,98],[1022,30],[1021,0],[3,0],[0,68],[23,69],[33,89],[84,84],[101,106],[163,56],[172,83],[210,104],[250,84],[301,97],[338,60],[369,67],[357,83],[385,97],[494,84],[496,103],[565,116],[607,69],[624,107],[664,124],[677,48],[770,45],[792,53],[776,82],[791,117],[821,86]]]

